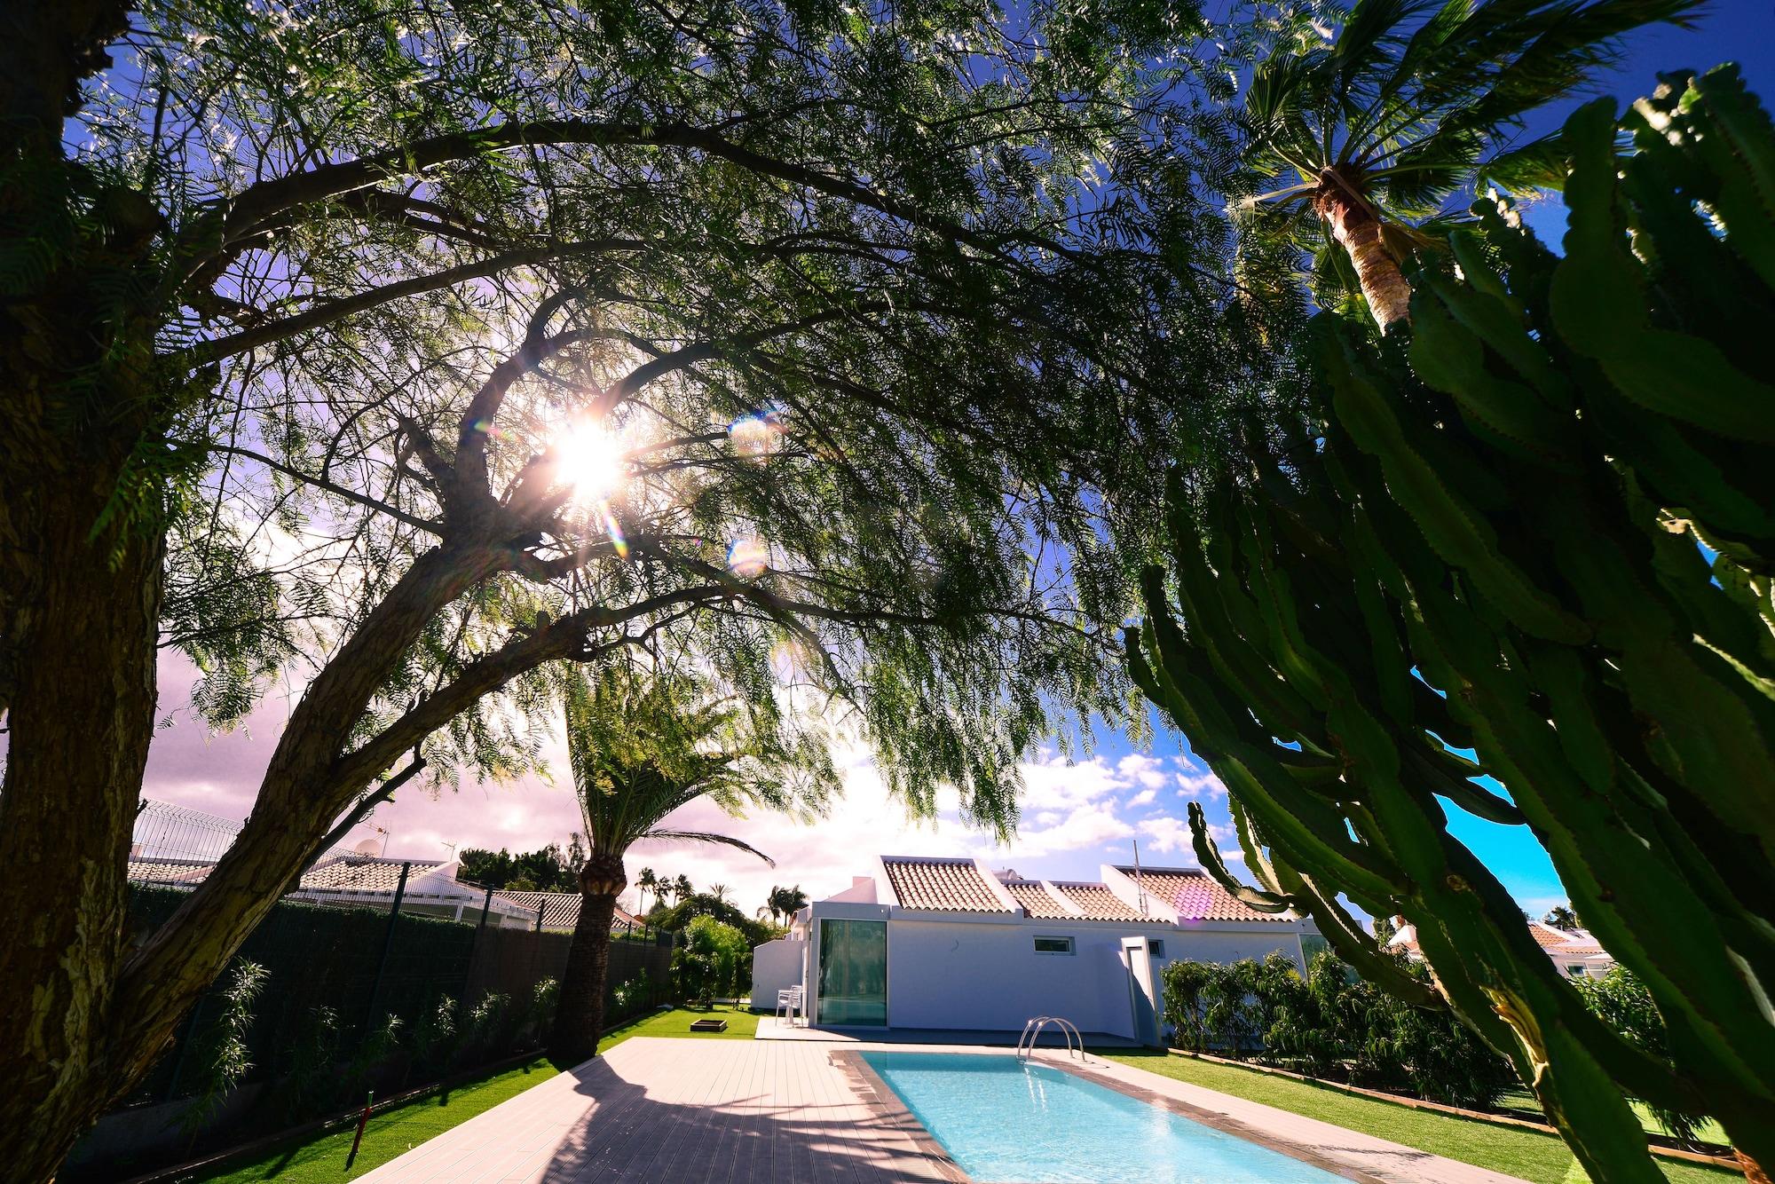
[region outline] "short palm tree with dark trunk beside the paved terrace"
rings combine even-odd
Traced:
[[[666,838],[726,843],[770,863],[737,838],[662,824],[699,797],[730,813],[790,804],[770,776],[790,756],[776,735],[746,731],[737,712],[710,703],[696,683],[627,666],[605,667],[591,683],[572,673],[566,733],[589,850],[550,1051],[580,1062],[596,1054],[604,1028],[611,918],[628,886],[623,856],[641,840]]]

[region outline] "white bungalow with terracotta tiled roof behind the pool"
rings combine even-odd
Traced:
[[[1157,1044],[1166,962],[1273,951],[1301,962],[1296,916],[1248,909],[1200,868],[1099,875],[1042,880],[978,859],[882,856],[753,951],[753,1001],[804,985],[822,1028],[1015,1033],[1061,1015]]]

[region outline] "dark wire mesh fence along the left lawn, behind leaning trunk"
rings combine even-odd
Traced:
[[[167,802],[144,802],[130,852],[133,941],[146,941],[227,852],[241,824]],[[458,1028],[477,1005],[497,996],[495,1021],[509,1042],[540,1033],[536,989],[559,980],[572,934],[543,932],[541,911],[518,909],[490,889],[451,905],[422,886],[431,863],[371,859],[332,850],[318,868],[339,861],[346,872],[376,873],[376,891],[328,895],[304,877],[247,937],[236,959],[192,1008],[174,1046],[130,1104],[165,1102],[199,1093],[215,1044],[224,994],[243,962],[264,969],[252,1008],[247,1046],[254,1079],[300,1076],[314,1063],[348,1063],[382,1049],[390,1019],[405,1054],[430,1056],[440,1010]],[[362,879],[362,877],[359,877]],[[449,886],[462,888],[456,880]],[[621,948],[621,951],[618,951]],[[609,983],[648,973],[669,983],[671,948],[650,941],[612,943]],[[493,1042],[497,1044],[497,1042]],[[490,1054],[497,1054],[492,1047]],[[463,1053],[465,1056],[469,1053]]]

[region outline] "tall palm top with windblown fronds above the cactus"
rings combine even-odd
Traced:
[[[1512,146],[1525,117],[1610,66],[1621,34],[1690,27],[1700,0],[1356,0],[1331,37],[1296,18],[1251,75],[1246,163],[1296,183],[1248,199],[1317,252],[1321,298],[1349,291],[1383,332],[1409,316],[1399,263],[1484,178],[1557,188],[1557,137]],[[1329,282],[1328,282],[1329,280]]]

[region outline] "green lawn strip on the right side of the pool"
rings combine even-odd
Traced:
[[[1585,1180],[1566,1145],[1551,1134],[1525,1131],[1521,1127],[1493,1125],[1452,1115],[1438,1115],[1429,1109],[1411,1109],[1377,1099],[1358,1097],[1340,1090],[1271,1077],[1269,1074],[1239,1069],[1237,1065],[1216,1065],[1187,1056],[1166,1056],[1164,1053],[1113,1053],[1095,1049],[1108,1060],[1145,1069],[1148,1072],[1200,1085],[1221,1093],[1232,1093],[1253,1102],[1264,1102],[1278,1109],[1287,1109],[1306,1118],[1319,1118],[1349,1131],[1361,1131],[1376,1138],[1416,1147],[1463,1163],[1471,1163],[1493,1172],[1518,1175],[1535,1184],[1567,1184]],[[1677,1184],[1725,1184],[1741,1180],[1736,1172],[1704,1168],[1700,1164],[1660,1159],[1667,1179]]]

